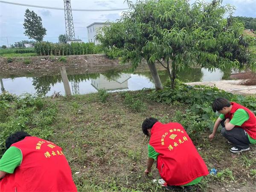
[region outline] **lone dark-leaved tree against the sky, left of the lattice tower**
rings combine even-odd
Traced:
[[[24,34],[30,39],[35,39],[35,41],[43,41],[47,30],[43,27],[41,17],[38,16],[34,11],[29,11],[29,9],[26,9],[24,16]]]

